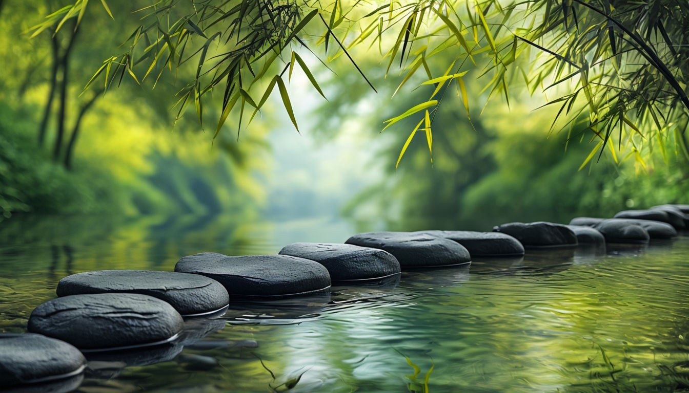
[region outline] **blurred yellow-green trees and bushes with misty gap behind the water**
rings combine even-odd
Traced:
[[[367,47],[350,53],[377,94],[351,63],[338,59],[327,70],[304,52],[328,100],[305,76],[292,79],[301,135],[278,96],[240,135],[233,115],[213,139],[216,125],[200,126],[194,108],[177,120],[172,109],[194,67],[141,85],[126,77],[104,94],[98,86],[83,92],[140,22],[112,2],[114,19],[93,6],[76,33],[30,38],[32,26],[68,3],[0,1],[0,217],[6,219],[190,213],[238,221],[344,218],[357,231],[490,230],[510,221],[568,222],[687,202],[689,164],[672,146],[665,158],[647,152],[642,162],[616,163],[603,155],[579,170],[593,145],[570,136],[588,124],[550,134],[557,108],[534,110],[542,102],[528,95],[512,96],[510,107],[501,100],[485,109],[473,105],[471,122],[461,99],[447,98],[433,123],[432,164],[418,135],[395,169],[413,124],[399,127],[407,134],[379,131],[384,120],[415,105],[421,90],[410,83],[407,94],[390,98],[398,83],[385,78],[387,61]],[[148,5],[138,0],[127,9]],[[481,102],[482,83],[471,74],[465,80]],[[220,116],[214,111],[204,108]]]

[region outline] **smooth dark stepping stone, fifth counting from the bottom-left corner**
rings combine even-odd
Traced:
[[[325,266],[333,284],[356,284],[400,275],[400,262],[378,248],[335,243],[293,243],[280,255],[311,259]]]

